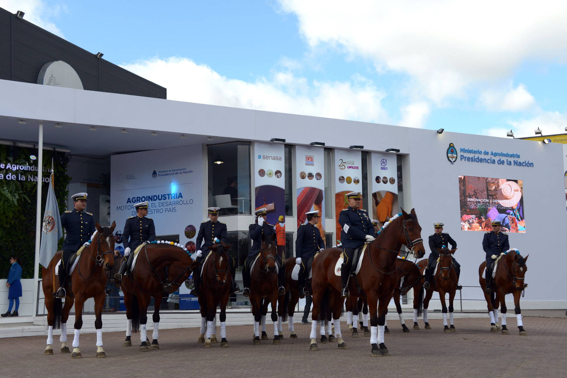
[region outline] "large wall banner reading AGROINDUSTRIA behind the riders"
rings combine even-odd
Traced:
[[[111,156],[111,220],[124,229],[136,215],[134,204],[148,201],[147,216],[156,235],[179,235],[195,251],[203,213],[202,145],[164,148]],[[175,242],[176,240],[169,240]]]

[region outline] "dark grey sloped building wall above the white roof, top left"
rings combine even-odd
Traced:
[[[25,17],[24,17],[25,18]],[[166,98],[167,89],[0,8],[0,79],[37,83],[45,63],[64,61],[87,91]]]

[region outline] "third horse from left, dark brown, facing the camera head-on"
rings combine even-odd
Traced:
[[[199,290],[199,306],[201,308],[201,330],[198,343],[205,343],[205,348],[212,347],[217,342],[217,337],[212,337],[216,332],[215,316],[217,306],[221,306],[221,347],[229,347],[226,340],[226,304],[229,303],[230,282],[232,273],[229,268],[229,254],[227,251],[231,245],[225,243],[209,247],[211,253],[202,267],[203,284]],[[227,284],[229,282],[229,284]],[[206,333],[206,334],[205,334]]]

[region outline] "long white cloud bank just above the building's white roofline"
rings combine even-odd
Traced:
[[[350,81],[312,81],[290,72],[253,83],[229,79],[191,59],[172,57],[122,65],[167,88],[169,100],[315,115],[356,121],[388,121],[380,102],[385,94],[363,76]]]

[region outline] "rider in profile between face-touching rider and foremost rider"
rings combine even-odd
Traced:
[[[295,264],[301,265],[299,268],[299,294],[309,295],[305,287],[307,277],[307,262],[315,256],[316,252],[325,249],[325,242],[321,238],[321,231],[316,226],[319,222],[319,211],[305,213],[307,223],[298,227],[297,239],[295,239]]]

